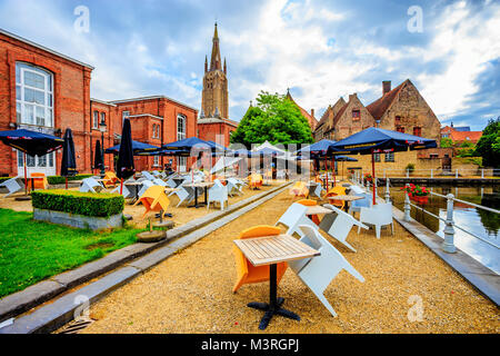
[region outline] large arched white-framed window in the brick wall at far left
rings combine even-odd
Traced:
[[[50,72],[16,63],[16,116],[18,122],[53,127],[53,77]]]

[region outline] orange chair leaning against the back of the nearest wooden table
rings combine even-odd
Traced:
[[[280,234],[281,229],[279,227],[269,225],[258,225],[241,231],[238,238],[243,239],[251,237],[273,236]],[[238,247],[233,246],[232,249],[236,256],[237,275],[238,275],[238,280],[234,287],[232,288],[232,293],[237,293],[237,290],[240,289],[242,285],[269,280],[269,266],[256,267],[247,259],[247,257],[244,257],[244,255]],[[288,268],[287,263],[277,264],[277,285],[280,283],[287,268]]]

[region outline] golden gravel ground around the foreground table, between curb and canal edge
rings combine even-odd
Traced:
[[[262,333],[262,313],[246,305],[267,301],[269,285],[231,293],[232,240],[247,227],[273,225],[291,202],[286,190],[113,291],[91,307],[96,322],[81,333]],[[337,318],[288,269],[278,295],[302,319],[274,317],[263,333],[498,334],[498,308],[401,226],[394,228],[394,236],[382,230],[380,240],[372,230],[354,229],[348,241],[358,253],[332,241],[366,278],[359,283],[342,271],[327,288]],[[419,300],[422,320],[410,322]]]

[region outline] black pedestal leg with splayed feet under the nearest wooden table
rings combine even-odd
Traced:
[[[277,265],[273,264],[269,266],[269,304],[252,301],[247,305],[250,308],[266,312],[259,324],[259,329],[261,330],[264,330],[268,327],[274,314],[289,319],[300,320],[300,316],[296,313],[281,308],[284,298],[277,298]]]

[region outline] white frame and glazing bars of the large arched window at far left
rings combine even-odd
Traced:
[[[43,89],[26,83],[28,73],[41,76],[43,78]],[[27,101],[26,91],[43,96],[43,103]],[[54,127],[53,119],[53,75],[48,70],[26,62],[16,62],[16,111],[17,120],[20,123],[39,127]],[[28,119],[28,111],[31,108],[32,119]],[[38,120],[37,112],[43,112],[43,121]]]

